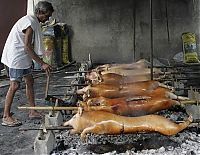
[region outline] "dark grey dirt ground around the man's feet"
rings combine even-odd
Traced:
[[[55,85],[65,84],[64,72],[67,69],[63,69],[55,74],[51,74],[50,85],[48,93],[64,94],[64,88],[54,88]],[[47,77],[42,73],[35,73],[35,99],[36,105],[45,106],[48,104],[45,101],[45,89],[47,83]],[[9,87],[9,80],[6,77],[0,79],[0,116],[3,115],[3,105],[5,101],[5,95]],[[34,154],[34,140],[38,133],[37,130],[19,131],[20,128],[27,127],[39,127],[43,120],[30,120],[28,118],[27,110],[19,110],[18,106],[27,105],[27,98],[25,95],[25,84],[22,82],[20,90],[17,91],[11,111],[14,113],[14,117],[22,121],[22,125],[19,127],[4,127],[0,125],[0,154],[1,155],[32,155]],[[42,113],[48,113],[42,111]]]

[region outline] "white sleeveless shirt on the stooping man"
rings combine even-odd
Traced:
[[[22,32],[29,26],[34,31],[34,51],[38,55],[43,54],[40,23],[35,16],[26,15],[15,23],[3,49],[1,62],[9,68],[27,69],[32,65],[32,58],[26,52],[24,46],[25,34]]]

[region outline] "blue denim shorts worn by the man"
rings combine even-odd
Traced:
[[[22,81],[22,78],[24,76],[27,76],[32,73],[31,68],[27,69],[14,69],[14,68],[9,68],[9,77],[10,81]]]

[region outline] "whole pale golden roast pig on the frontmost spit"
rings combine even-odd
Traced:
[[[175,135],[184,130],[192,122],[190,116],[183,123],[176,124],[159,115],[125,117],[105,111],[81,111],[74,115],[64,126],[72,126],[72,133],[81,133],[84,140],[86,134],[127,134],[137,132],[158,132],[163,135]]]

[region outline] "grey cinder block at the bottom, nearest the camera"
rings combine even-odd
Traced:
[[[34,153],[35,155],[49,155],[55,144],[56,140],[52,131],[47,131],[47,133],[39,131],[34,141]]]

